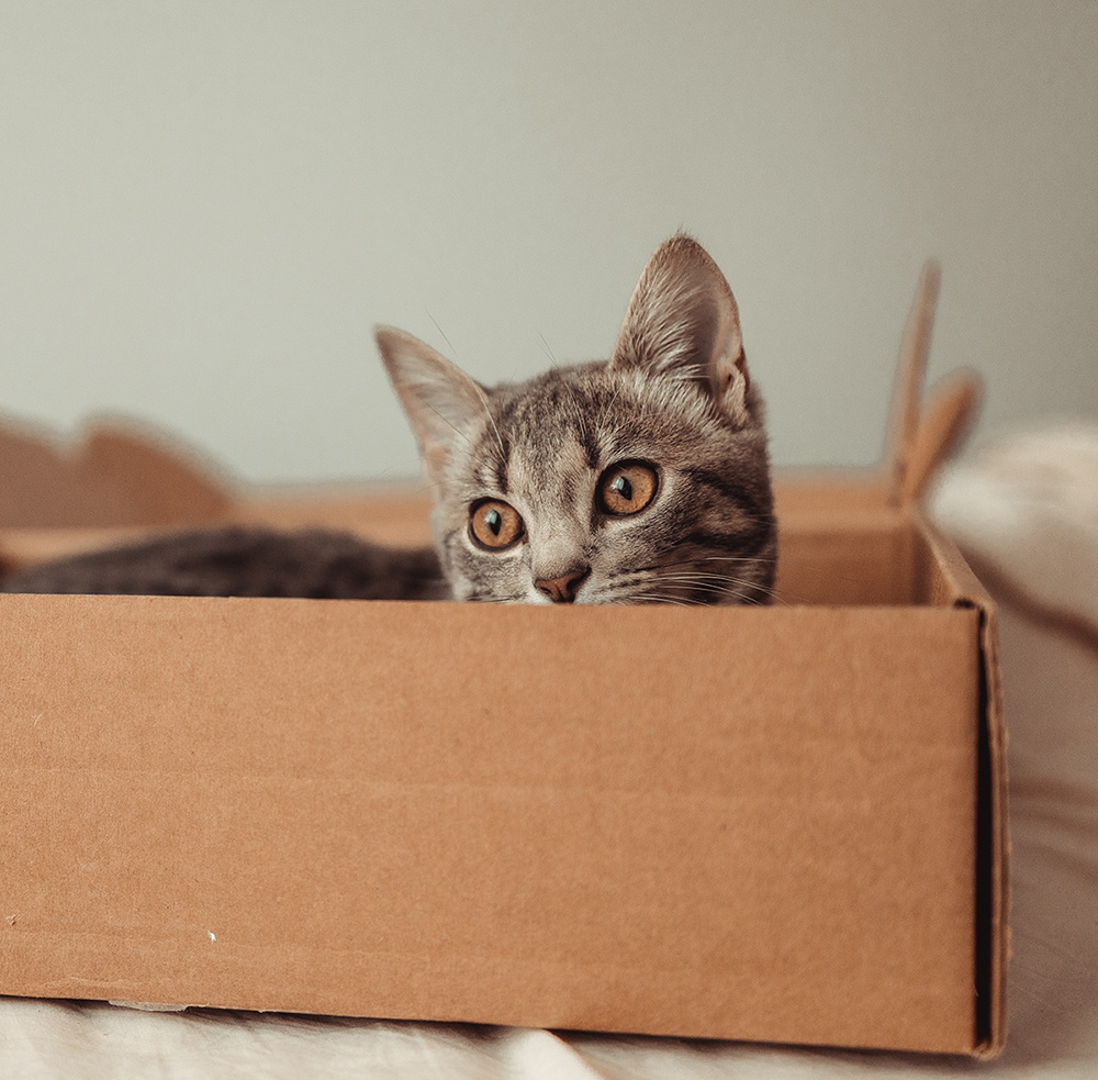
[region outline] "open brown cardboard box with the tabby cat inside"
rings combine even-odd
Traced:
[[[997,1053],[995,615],[911,415],[781,480],[766,609],[0,597],[0,992]]]

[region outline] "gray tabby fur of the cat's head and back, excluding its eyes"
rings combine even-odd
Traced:
[[[223,528],[48,564],[2,590],[769,602],[777,530],[762,403],[736,301],[694,241],[653,255],[609,360],[489,389],[407,334],[377,336],[434,488],[437,557],[339,533]],[[598,497],[621,463],[658,477],[651,502],[625,516]],[[485,500],[522,516],[506,549],[473,537]]]

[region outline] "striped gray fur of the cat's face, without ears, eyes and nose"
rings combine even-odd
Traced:
[[[436,548],[457,599],[549,602],[536,581],[590,567],[580,603],[768,601],[776,530],[761,426],[732,426],[693,385],[606,363],[500,387],[486,408],[436,486]],[[659,472],[651,506],[601,513],[603,470],[638,459]],[[469,506],[485,497],[518,510],[525,543],[471,542]]]

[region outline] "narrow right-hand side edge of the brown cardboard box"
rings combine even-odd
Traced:
[[[979,612],[981,738],[976,815],[976,1032],[974,1055],[994,1058],[1007,1038],[1007,965],[1010,958],[1010,835],[1008,826],[1007,733],[999,676],[995,603],[963,555],[918,506],[909,512],[945,579],[952,603]]]

